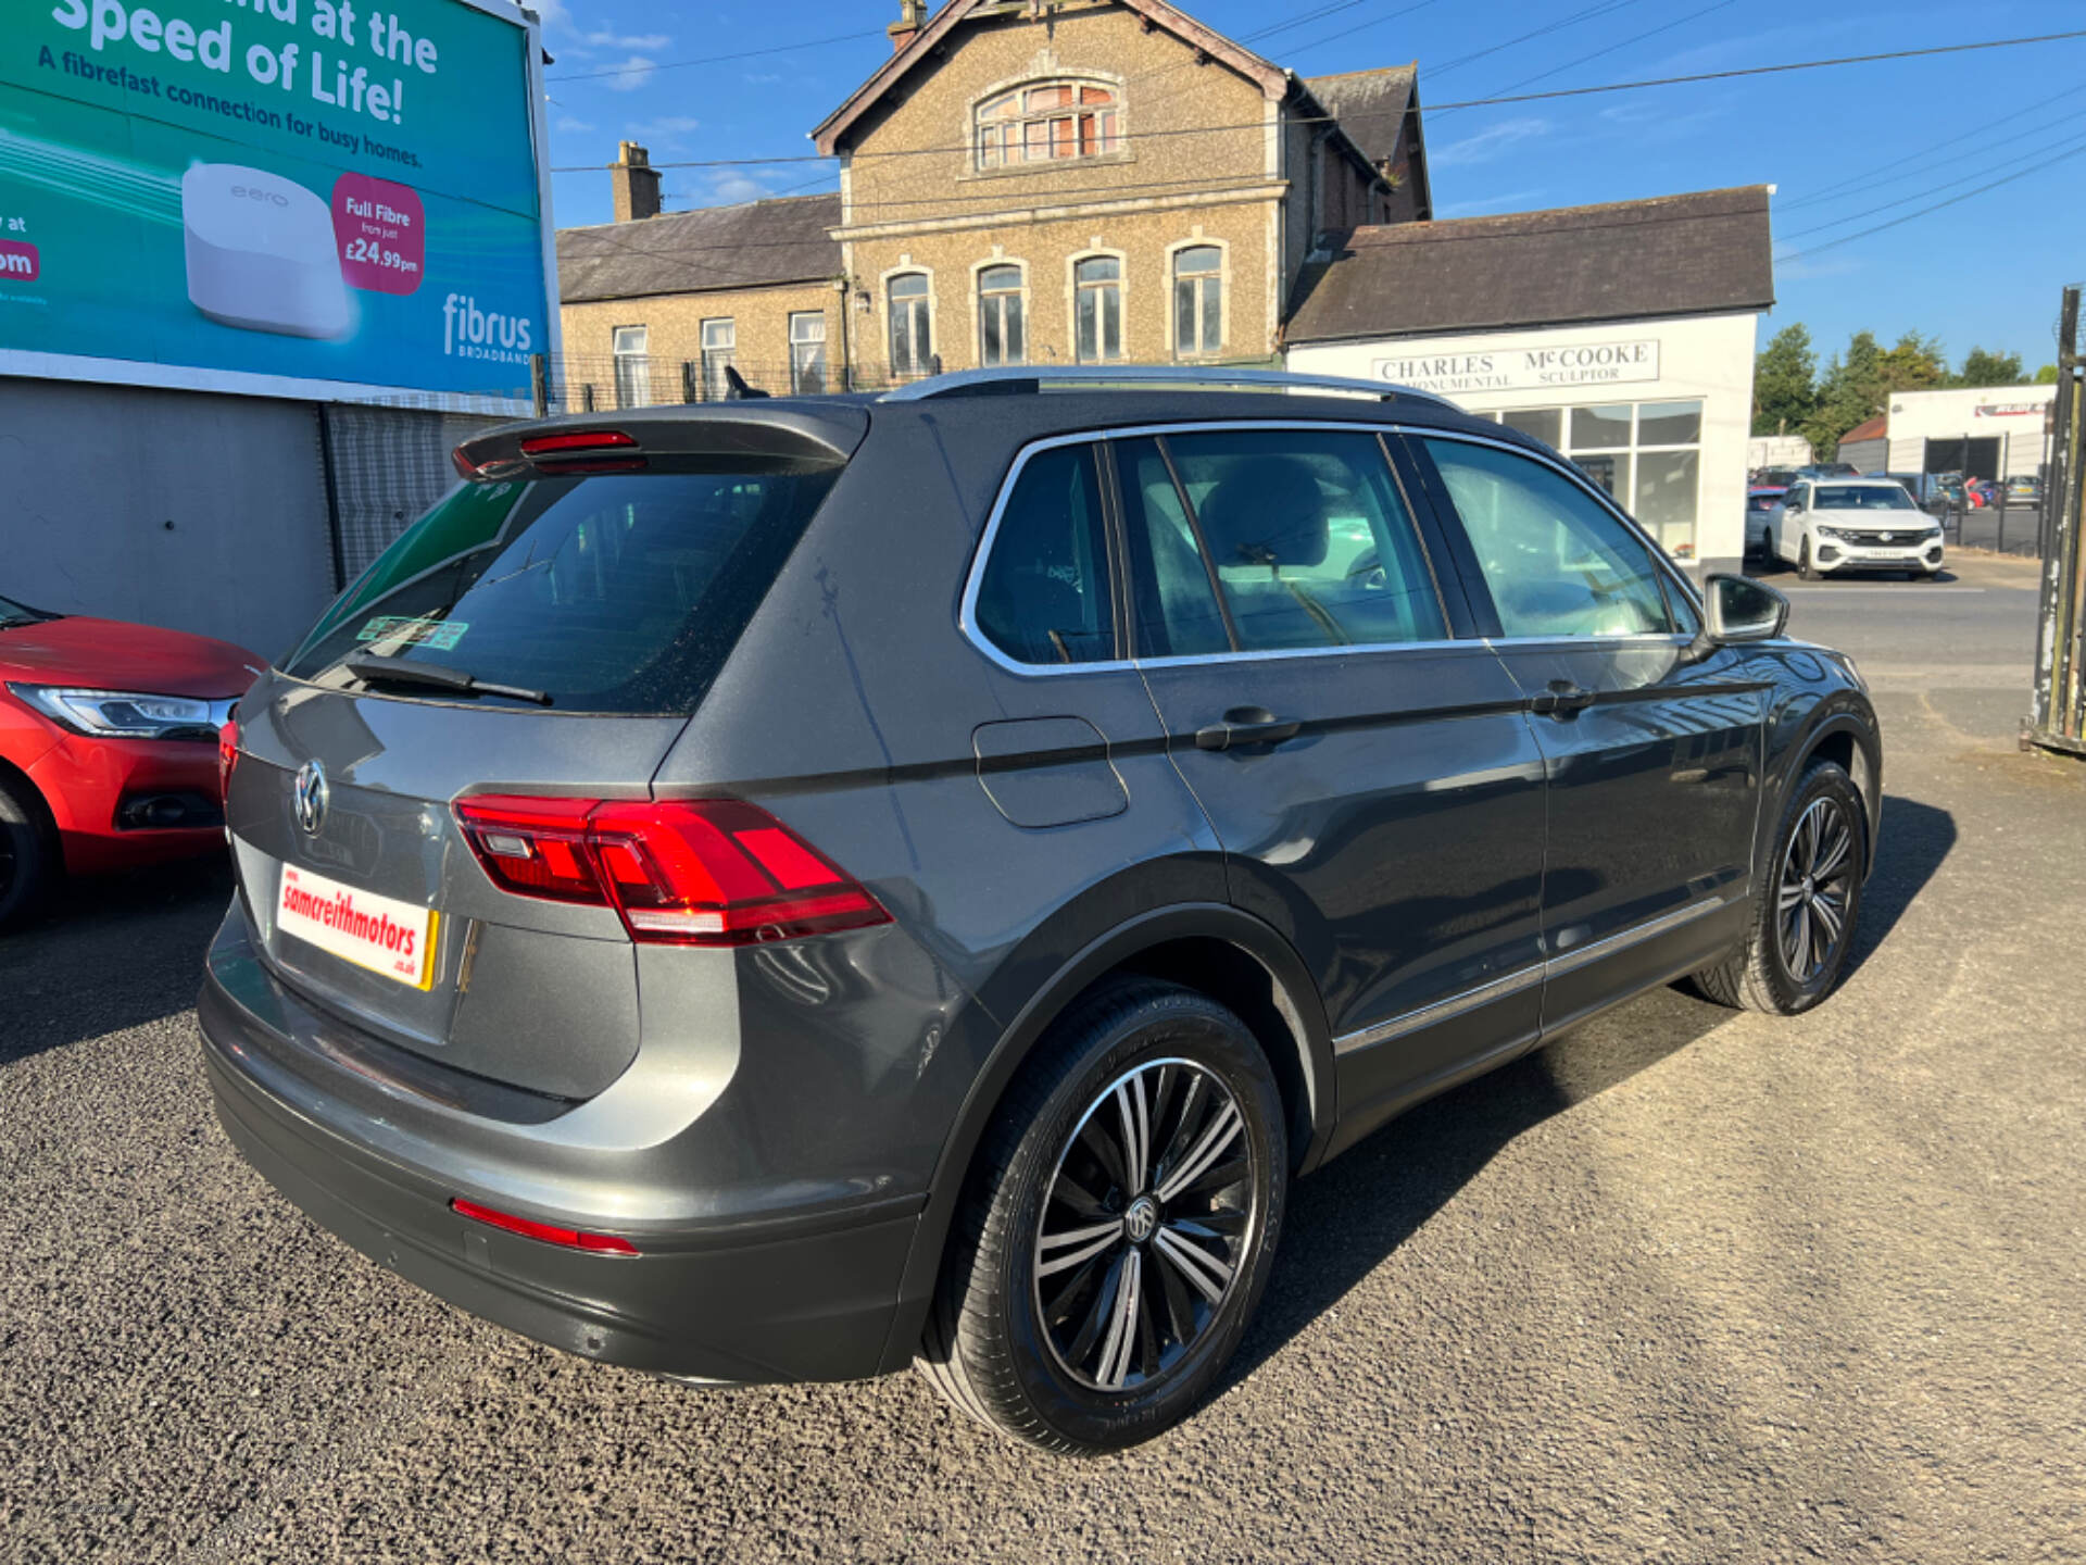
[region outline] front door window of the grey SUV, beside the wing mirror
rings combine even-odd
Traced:
[[[1542,463],[1427,440],[1506,636],[1673,630],[1650,551],[1585,490]]]

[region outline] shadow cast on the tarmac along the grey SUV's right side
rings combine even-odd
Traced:
[[[1848,972],[1911,908],[1955,849],[1946,810],[1884,797],[1875,872]],[[1679,989],[1652,989],[1491,1075],[1421,1104],[1291,1187],[1268,1292],[1224,1377],[1247,1379],[1335,1308],[1371,1271],[1475,1179],[1514,1137],[1629,1081],[1738,1012]]]

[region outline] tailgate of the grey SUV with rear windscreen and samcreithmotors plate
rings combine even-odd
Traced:
[[[227,824],[284,983],[398,1048],[555,1098],[630,1064],[622,918],[494,887],[455,803],[649,797],[843,463],[726,444],[632,457],[626,440],[613,463],[463,484],[242,701]],[[371,655],[388,672],[357,668]],[[501,691],[430,684],[455,674]]]

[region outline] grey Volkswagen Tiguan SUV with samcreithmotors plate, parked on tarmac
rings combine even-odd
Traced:
[[[1106,1450],[1293,1177],[1838,983],[1877,726],[1777,595],[1423,394],[1085,374],[465,442],[225,732],[252,1164],[569,1352]]]

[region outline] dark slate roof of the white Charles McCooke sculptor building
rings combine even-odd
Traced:
[[[1356,227],[1329,246],[1297,275],[1289,344],[1775,303],[1767,186]]]

